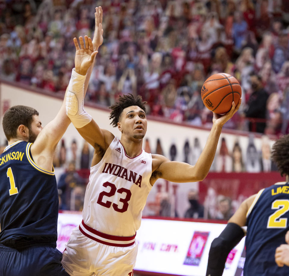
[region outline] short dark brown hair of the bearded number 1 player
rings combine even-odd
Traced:
[[[31,123],[33,122],[33,115],[39,115],[36,109],[16,105],[10,107],[3,116],[3,130],[4,134],[9,141],[11,138],[17,137],[17,128],[19,125],[25,125],[31,131]]]

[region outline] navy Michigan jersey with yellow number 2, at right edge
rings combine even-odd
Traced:
[[[278,182],[262,189],[247,212],[246,276],[289,275],[289,267],[278,267],[275,250],[285,243],[289,230],[289,183]]]

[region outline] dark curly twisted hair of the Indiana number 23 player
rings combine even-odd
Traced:
[[[112,122],[110,123],[110,125],[112,125],[113,127],[116,127],[117,123],[120,120],[120,116],[121,116],[121,113],[123,112],[123,109],[129,106],[139,106],[145,112],[145,106],[144,106],[145,103],[146,102],[142,101],[142,98],[140,95],[138,95],[136,98],[133,97],[132,94],[119,96],[118,102],[109,107],[111,109],[109,119],[112,119]]]

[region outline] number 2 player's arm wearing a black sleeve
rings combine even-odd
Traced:
[[[235,214],[228,220],[222,233],[213,240],[206,276],[222,276],[228,254],[244,237],[241,227],[246,225],[246,215],[255,197],[256,195],[252,195],[242,202]]]

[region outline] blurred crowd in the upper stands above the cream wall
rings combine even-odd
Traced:
[[[243,93],[226,127],[288,133],[287,0],[2,0],[0,77],[64,94],[73,37],[93,36],[98,5],[104,43],[87,101],[109,106],[140,94],[148,114],[206,125],[202,84],[225,72]]]

